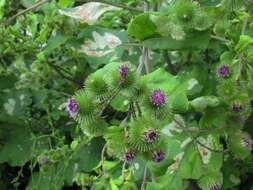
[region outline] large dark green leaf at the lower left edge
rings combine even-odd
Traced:
[[[3,145],[0,149],[0,163],[22,166],[31,159],[34,140],[27,127],[18,125],[1,125]]]

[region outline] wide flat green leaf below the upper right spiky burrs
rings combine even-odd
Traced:
[[[143,46],[152,50],[196,50],[206,49],[210,40],[210,31],[194,31],[187,33],[183,40],[176,40],[171,37],[151,38],[143,41]]]

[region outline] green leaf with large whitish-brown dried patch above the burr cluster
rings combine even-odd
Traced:
[[[116,31],[101,27],[86,27],[79,35],[84,44],[79,50],[92,68],[102,64],[118,61],[123,56],[124,47],[128,37],[125,31]]]

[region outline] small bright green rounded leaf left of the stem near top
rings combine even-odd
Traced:
[[[148,37],[151,37],[155,33],[156,26],[150,20],[149,13],[138,15],[130,22],[128,26],[128,34],[141,41]]]

